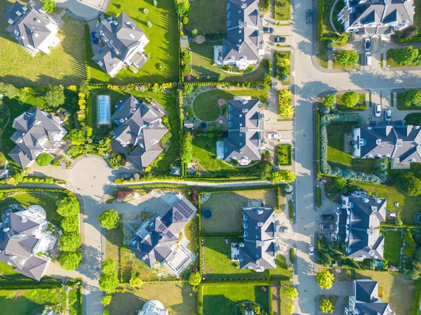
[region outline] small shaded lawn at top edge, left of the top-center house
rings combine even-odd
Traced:
[[[191,1],[187,28],[204,34],[227,32],[227,0]]]

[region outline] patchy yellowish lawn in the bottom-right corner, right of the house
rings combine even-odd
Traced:
[[[396,315],[410,314],[411,300],[413,297],[414,281],[405,274],[389,274],[387,272],[358,271],[357,279],[373,279],[382,288],[383,302],[390,303]],[[404,294],[403,294],[404,293]]]

